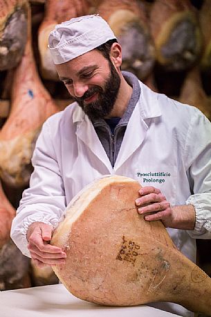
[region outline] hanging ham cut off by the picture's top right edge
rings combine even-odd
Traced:
[[[211,69],[211,6],[210,0],[204,0],[200,12],[200,24],[204,46],[201,65],[203,69]]]

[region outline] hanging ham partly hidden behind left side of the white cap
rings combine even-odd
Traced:
[[[41,60],[42,77],[58,80],[57,71],[48,49],[48,36],[56,24],[72,17],[86,15],[88,6],[85,0],[46,0],[45,17],[39,27],[38,46]]]

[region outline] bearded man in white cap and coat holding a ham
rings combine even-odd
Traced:
[[[96,178],[118,174],[143,185],[138,212],[146,221],[161,220],[195,262],[195,239],[211,238],[208,119],[121,71],[121,46],[98,15],[55,26],[49,48],[75,103],[44,123],[12,239],[38,266],[64,264],[65,252],[48,242],[66,205]],[[172,303],[154,307],[191,316]]]

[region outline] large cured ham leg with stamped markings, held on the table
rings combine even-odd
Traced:
[[[174,246],[161,221],[147,222],[140,184],[112,175],[73,198],[51,243],[67,255],[53,266],[68,291],[102,305],[176,302],[211,314],[211,280]],[[200,299],[200,300],[199,300]]]

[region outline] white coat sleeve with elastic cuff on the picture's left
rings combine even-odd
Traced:
[[[11,228],[12,240],[28,257],[30,253],[27,248],[26,233],[29,225],[41,221],[55,228],[62,220],[66,208],[64,185],[48,121],[44,123],[37,139],[32,163],[34,171],[30,177],[30,187],[23,193]]]

